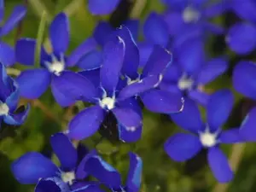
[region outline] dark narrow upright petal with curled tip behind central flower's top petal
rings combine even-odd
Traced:
[[[122,74],[130,77],[131,79],[137,78],[137,68],[140,60],[137,44],[132,38],[130,30],[126,26],[121,26],[116,33],[125,42],[125,58],[122,67]]]

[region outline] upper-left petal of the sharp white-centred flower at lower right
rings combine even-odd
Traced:
[[[204,127],[198,106],[189,98],[185,98],[181,113],[172,113],[170,116],[174,123],[187,131],[197,133]]]

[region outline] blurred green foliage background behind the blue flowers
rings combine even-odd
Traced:
[[[141,0],[138,0],[141,1]],[[98,20],[108,20],[109,16],[90,15],[85,0],[5,0],[6,13],[10,15],[15,5],[27,4],[28,12],[26,19],[20,26],[21,32],[14,30],[3,41],[8,44],[15,44],[18,37],[36,38],[38,26],[44,10],[47,11],[48,25],[49,21],[59,13],[65,10],[70,18],[71,40],[70,49],[72,51],[81,44],[86,38],[90,37]],[[148,0],[143,7],[140,19],[143,20],[151,11],[162,12],[165,10],[160,0]],[[222,22],[224,17],[218,18],[216,22]],[[47,28],[45,30],[47,37]],[[217,41],[218,40],[214,40]],[[212,43],[208,44],[212,50]],[[209,55],[218,55],[215,52],[209,52]],[[24,68],[16,65],[15,68]],[[218,90],[220,88],[231,88],[230,73],[224,74],[218,80],[207,86],[208,90]],[[234,91],[235,93],[235,91]],[[236,93],[235,93],[236,94]],[[22,100],[20,104],[27,101]],[[236,94],[236,108],[230,117],[226,127],[239,126],[241,119],[252,106],[252,102],[241,99]],[[9,137],[0,141],[0,191],[1,192],[28,192],[33,191],[31,185],[21,185],[10,172],[10,163],[20,155],[28,151],[40,151],[47,154],[50,150],[49,137],[51,134],[65,130],[67,122],[74,115],[78,108],[60,108],[51,96],[50,91],[40,98],[40,102],[32,102],[32,110],[29,114],[26,124],[21,127],[8,127],[12,130]],[[203,109],[202,109],[203,113]],[[103,140],[97,144],[100,136],[83,141],[88,148],[97,148],[120,172],[124,174],[129,166],[127,152],[132,150],[143,158],[143,187],[142,192],[254,192],[256,187],[256,148],[253,143],[247,146],[238,145],[234,148],[224,146],[227,155],[232,154],[232,165],[241,163],[236,171],[236,177],[233,182],[227,185],[218,185],[212,173],[207,166],[206,154],[203,152],[189,160],[186,163],[177,163],[172,161],[163,150],[163,143],[176,131],[180,131],[176,125],[165,115],[154,114],[144,111],[143,138],[138,143],[110,143]],[[55,158],[54,158],[55,159]],[[57,161],[57,160],[56,160]],[[237,161],[237,162],[236,162]]]

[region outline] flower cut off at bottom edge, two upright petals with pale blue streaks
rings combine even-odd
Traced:
[[[98,155],[87,160],[84,170],[113,192],[138,192],[142,183],[143,160],[137,154],[129,153],[129,156],[130,167],[125,185],[121,183],[119,172]]]

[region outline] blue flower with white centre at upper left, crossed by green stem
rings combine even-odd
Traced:
[[[62,107],[67,107],[73,104],[73,99],[68,98],[67,94],[62,93],[59,87],[56,86],[56,79],[62,79],[62,73],[72,72],[66,70],[67,67],[73,67],[79,59],[96,48],[94,39],[89,38],[68,57],[65,57],[69,42],[69,22],[67,15],[61,13],[55,16],[55,19],[49,26],[49,38],[52,44],[52,52],[46,53],[44,48],[41,49],[41,66],[42,68],[28,69],[22,71],[17,77],[17,82],[20,85],[20,95],[28,99],[37,99],[45,90],[48,89],[49,84],[55,101]],[[22,38],[16,44],[16,59],[18,62],[32,66],[35,60],[36,40],[30,38]],[[73,78],[68,79],[65,84],[72,81]],[[64,81],[62,82],[64,83]],[[61,84],[61,86],[65,86]]]

